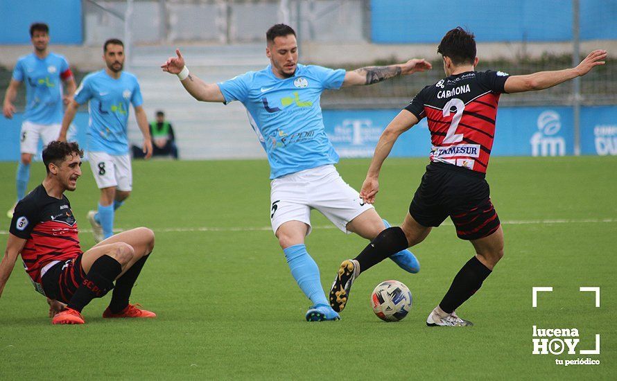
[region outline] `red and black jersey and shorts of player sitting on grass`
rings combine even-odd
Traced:
[[[69,199],[51,197],[42,185],[37,186],[15,206],[9,231],[26,240],[21,259],[35,290],[51,299],[70,299],[69,292],[76,290],[85,274],[79,265],[82,250]],[[62,283],[53,292],[44,287],[50,284],[44,279],[48,274],[58,276],[53,283]]]

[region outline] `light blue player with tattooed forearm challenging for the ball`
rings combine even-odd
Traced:
[[[338,162],[324,131],[320,96],[325,89],[372,85],[399,75],[431,69],[425,60],[409,60],[386,67],[354,71],[332,70],[298,64],[295,32],[277,24],[266,33],[270,65],[226,82],[207,84],[189,73],[179,50],[162,65],[177,74],[186,91],[197,100],[229,103],[239,100],[247,108],[253,130],[268,154],[272,201],[272,231],[287,258],[291,274],[313,307],[306,320],[339,319],[322,289],[317,264],[308,255],[304,238],[311,233],[310,212],[318,209],[339,229],[367,239],[385,229],[376,211],[342,180],[333,164]],[[408,272],[419,263],[410,251],[391,257]]]

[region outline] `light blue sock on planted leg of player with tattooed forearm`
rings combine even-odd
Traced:
[[[319,267],[315,260],[306,252],[305,245],[293,245],[283,249],[291,275],[298,283],[302,292],[311,299],[313,305],[329,305],[322,289]]]

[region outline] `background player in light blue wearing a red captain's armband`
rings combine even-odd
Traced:
[[[12,118],[15,114],[13,102],[17,97],[17,89],[21,82],[26,82],[26,113],[19,134],[21,158],[17,166],[17,201],[26,195],[30,163],[38,152],[39,139],[43,145],[58,139],[62,101],[68,103],[76,88],[67,59],[47,49],[49,26],[43,23],[32,24],[30,37],[34,52],[17,60],[2,107],[4,116]],[[63,83],[66,95],[63,93]],[[12,218],[14,209],[15,206],[7,212],[9,218]]]

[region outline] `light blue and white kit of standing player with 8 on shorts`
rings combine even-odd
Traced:
[[[89,102],[87,150],[98,188],[131,190],[128,115],[131,104],[139,107],[144,103],[137,78],[125,71],[118,79],[105,70],[90,73],[77,89],[75,101],[80,105]],[[121,204],[98,204],[96,220],[101,223],[105,238],[113,234],[114,210]]]

